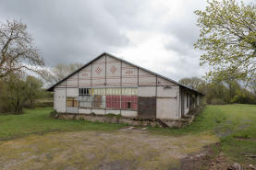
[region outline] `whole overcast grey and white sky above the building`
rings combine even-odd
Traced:
[[[250,0],[245,1],[249,3]],[[0,0],[0,21],[22,19],[47,67],[108,52],[174,80],[201,77],[195,10],[206,0]]]

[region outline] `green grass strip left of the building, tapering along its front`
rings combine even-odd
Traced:
[[[13,139],[47,131],[118,130],[124,124],[110,124],[76,119],[52,119],[53,108],[26,109],[23,115],[0,116],[0,140]]]

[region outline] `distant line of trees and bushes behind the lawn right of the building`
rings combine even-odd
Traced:
[[[199,77],[183,78],[178,81],[183,85],[191,85],[206,96],[204,102],[208,105],[225,105],[232,103],[256,104],[256,81],[249,85],[233,80],[232,82],[212,81],[207,82]]]

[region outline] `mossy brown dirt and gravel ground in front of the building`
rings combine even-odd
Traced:
[[[175,137],[147,130],[35,134],[0,142],[0,169],[180,169],[192,153],[217,141],[209,135]]]

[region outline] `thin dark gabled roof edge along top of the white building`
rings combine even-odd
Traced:
[[[185,87],[185,88],[188,88],[189,90],[192,90],[192,91],[197,92],[197,93],[199,93],[199,94],[201,94],[201,95],[204,95],[204,94],[202,94],[201,92],[198,92],[198,91],[194,90],[194,89],[191,88],[190,86],[182,85],[182,84],[178,83],[178,82],[175,81],[175,80],[172,80],[172,79],[167,78],[167,77],[165,77],[165,76],[163,76],[163,75],[160,75],[160,74],[153,73],[153,72],[150,71],[150,70],[147,70],[147,69],[145,69],[145,68],[142,68],[142,67],[140,67],[139,65],[136,65],[136,64],[134,64],[134,63],[127,62],[127,61],[125,61],[125,60],[123,60],[123,59],[120,59],[120,58],[118,58],[118,57],[116,57],[116,56],[114,56],[114,55],[112,55],[112,54],[107,53],[107,52],[102,53],[102,54],[99,55],[98,57],[96,57],[96,58],[94,58],[93,60],[91,60],[91,62],[96,61],[97,59],[99,59],[99,58],[102,57],[103,55],[109,55],[110,57],[113,57],[113,58],[115,58],[115,59],[117,59],[117,60],[119,60],[119,61],[126,62],[126,63],[128,63],[128,64],[130,64],[130,65],[133,65],[133,66],[135,66],[135,67],[140,68],[141,70],[144,70],[144,71],[149,72],[149,73],[151,73],[151,74],[155,74],[155,75],[157,75],[157,76],[159,76],[159,77],[162,77],[162,78],[164,78],[164,79],[166,79],[166,80],[169,80],[169,81],[171,81],[171,82],[173,82],[173,83],[176,83],[177,85],[181,85],[181,86],[183,86],[183,87]],[[61,81],[59,81],[59,82],[56,83],[55,85],[60,84],[61,82],[63,82],[64,80],[66,80],[68,77],[72,76],[73,74],[76,74],[76,73],[79,72],[81,69],[83,69],[83,68],[86,67],[87,65],[91,64],[91,62],[87,62],[85,65],[83,65],[82,67],[80,67],[77,71],[73,72],[72,74],[67,75],[67,77],[65,77],[64,79],[62,79]],[[52,85],[52,86],[49,87],[46,91],[53,92],[53,91],[54,91],[54,88],[55,88],[55,85]]]

